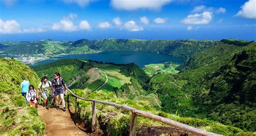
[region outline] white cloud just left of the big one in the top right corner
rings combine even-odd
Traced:
[[[213,18],[211,12],[195,13],[188,15],[181,22],[184,24],[208,24]]]

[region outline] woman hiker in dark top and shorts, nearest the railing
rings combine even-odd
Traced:
[[[52,80],[51,91],[52,91],[52,94],[54,94],[54,96],[55,96],[56,109],[59,110],[58,99],[59,99],[59,96],[60,96],[60,99],[62,99],[63,111],[66,111],[63,86],[66,90],[68,90],[66,88],[66,85],[65,85],[65,82],[64,82],[63,78],[60,77],[60,73],[56,72],[54,74],[54,78]]]

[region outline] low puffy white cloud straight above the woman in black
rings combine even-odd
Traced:
[[[64,30],[64,31],[76,31],[77,26],[73,25],[73,22],[69,19],[62,19],[60,23],[54,23],[51,26],[52,30]]]

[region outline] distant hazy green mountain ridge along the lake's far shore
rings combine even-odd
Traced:
[[[62,53],[87,53],[92,51],[146,51],[187,58],[193,53],[208,49],[217,40],[140,40],[140,39],[80,39],[76,42],[36,40],[34,42],[0,42],[9,45],[6,55],[60,55]]]

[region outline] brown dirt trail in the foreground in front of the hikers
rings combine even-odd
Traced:
[[[60,108],[62,109],[62,108]],[[88,135],[80,130],[73,122],[68,110],[56,110],[56,108],[42,108],[38,106],[38,114],[46,124],[46,135]]]

